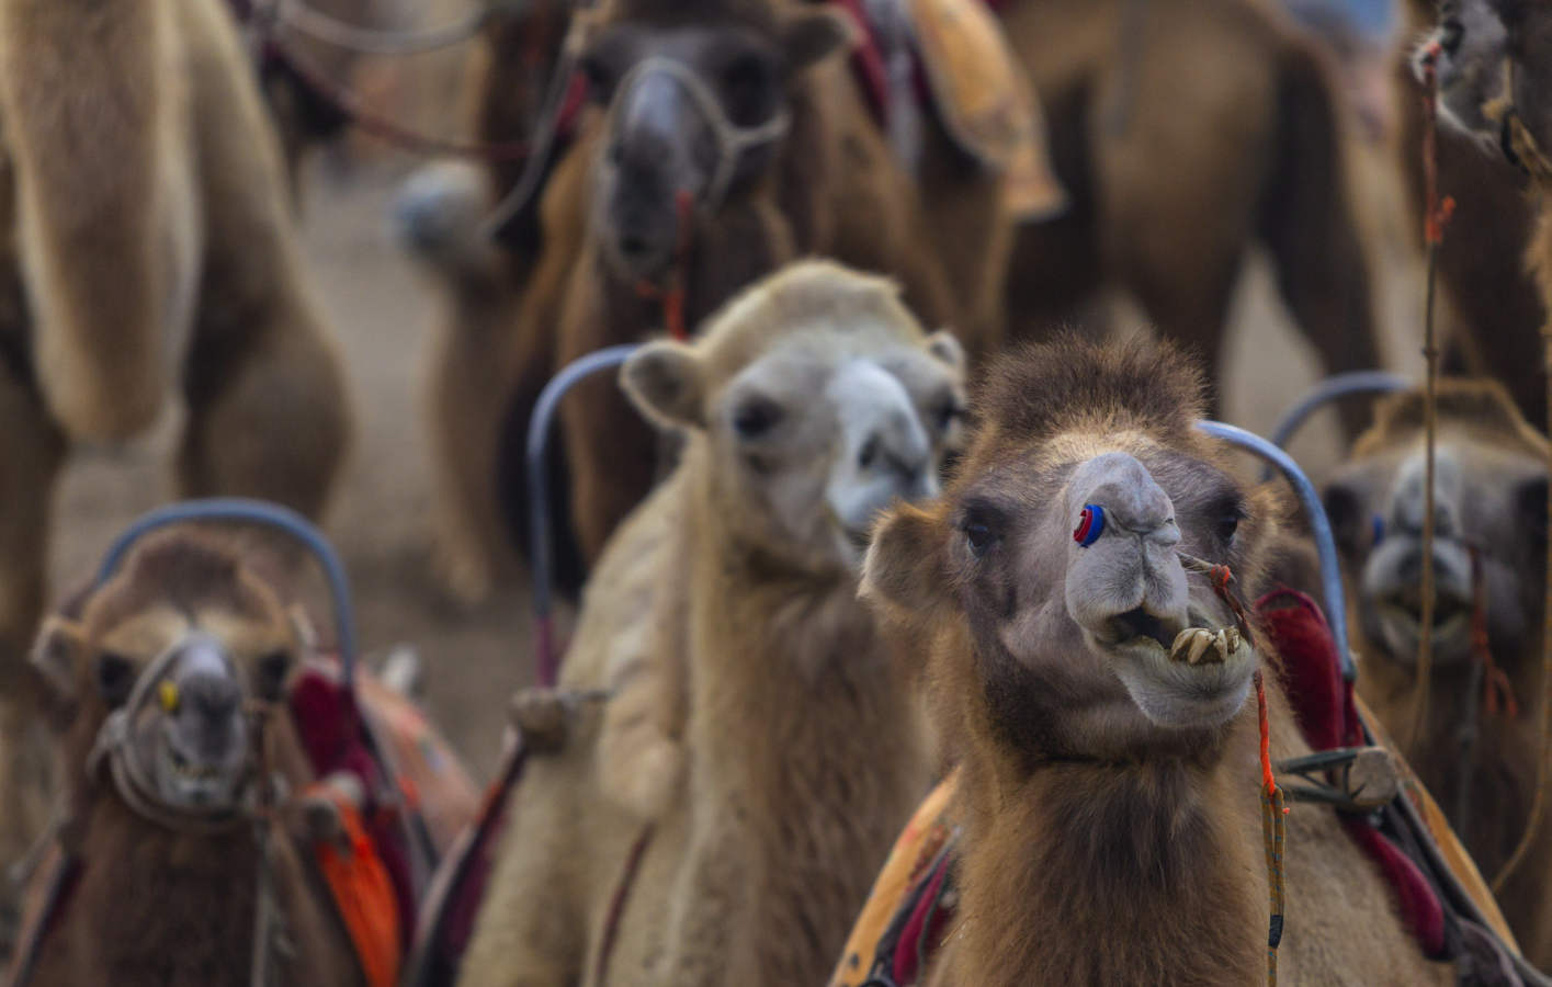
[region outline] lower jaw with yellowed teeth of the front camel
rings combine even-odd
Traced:
[[[1245,706],[1259,666],[1256,650],[1232,629],[1192,621],[1170,647],[1139,635],[1119,644],[1093,641],[1142,715],[1164,728],[1217,728]]]

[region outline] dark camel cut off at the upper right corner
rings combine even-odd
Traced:
[[[1541,376],[1540,327],[1546,309],[1523,258],[1535,216],[1526,208],[1526,175],[1502,155],[1484,154],[1481,133],[1491,129],[1482,104],[1502,85],[1491,70],[1502,59],[1504,33],[1482,3],[1445,5],[1412,0],[1408,26],[1422,36],[1417,50],[1397,59],[1397,141],[1401,174],[1412,211],[1412,230],[1423,247],[1423,99],[1419,56],[1440,42],[1442,99],[1437,130],[1439,192],[1456,200],[1456,211],[1439,247],[1439,289],[1443,304],[1443,369],[1451,376],[1495,377],[1513,394],[1521,413],[1544,422],[1546,386]],[[1459,25],[1459,29],[1443,25]],[[1491,138],[1496,143],[1496,138]]]

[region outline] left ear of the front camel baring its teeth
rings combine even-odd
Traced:
[[[874,526],[861,596],[896,619],[928,616],[945,602],[942,507],[900,504]]]

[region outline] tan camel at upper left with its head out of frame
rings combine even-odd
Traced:
[[[188,416],[182,492],[317,515],[349,438],[286,172],[227,11],[0,0],[0,791],[31,722],[54,480],[70,448]],[[0,813],[0,858],[37,819]]]

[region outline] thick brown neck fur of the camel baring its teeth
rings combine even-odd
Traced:
[[[1265,978],[1254,700],[1214,750],[1116,764],[1015,750],[979,687],[958,695],[965,832],[947,984]]]

